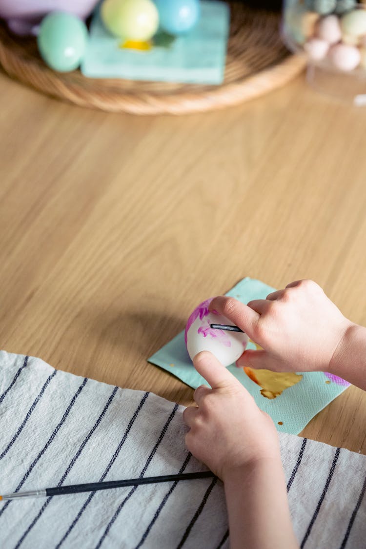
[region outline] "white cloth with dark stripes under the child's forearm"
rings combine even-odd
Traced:
[[[182,412],[1,351],[0,493],[204,470],[185,449]],[[280,444],[300,546],[366,547],[366,457],[294,435]],[[0,502],[0,547],[228,548],[223,486],[209,478]]]

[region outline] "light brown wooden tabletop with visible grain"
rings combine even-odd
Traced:
[[[366,110],[300,77],[209,114],[81,109],[0,75],[0,344],[188,405],[147,357],[244,276],[312,278],[366,324]],[[366,453],[350,388],[303,430]]]

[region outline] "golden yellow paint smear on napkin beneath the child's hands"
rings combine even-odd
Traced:
[[[249,366],[244,367],[246,375],[257,385],[262,387],[261,395],[266,399],[275,399],[285,389],[296,385],[302,376],[293,372],[271,372],[269,370],[254,370]]]

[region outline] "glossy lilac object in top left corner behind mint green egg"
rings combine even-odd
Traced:
[[[36,35],[50,12],[68,12],[86,19],[98,0],[0,0],[0,18],[18,35]]]

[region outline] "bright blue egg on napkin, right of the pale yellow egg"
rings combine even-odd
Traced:
[[[200,16],[199,0],[155,0],[160,26],[173,35],[188,32]]]

